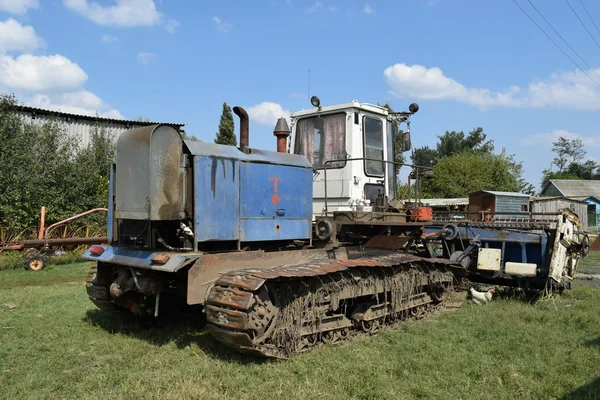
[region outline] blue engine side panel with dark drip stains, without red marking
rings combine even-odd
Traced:
[[[194,158],[194,232],[198,242],[239,240],[239,164],[232,158]]]

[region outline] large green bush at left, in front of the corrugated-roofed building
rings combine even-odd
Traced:
[[[98,125],[82,147],[57,122],[29,123],[15,112],[12,96],[0,95],[0,227],[23,231],[83,211],[106,207],[113,138]],[[105,227],[106,214],[75,224]],[[105,228],[104,228],[105,229]]]

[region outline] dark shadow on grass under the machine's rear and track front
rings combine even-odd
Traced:
[[[158,321],[140,321],[128,315],[89,310],[83,321],[108,333],[135,337],[156,346],[174,343],[177,348],[183,349],[195,344],[207,356],[222,361],[236,364],[261,364],[268,361],[240,354],[217,342],[206,329],[206,319],[200,309],[196,309],[194,313],[175,312]]]

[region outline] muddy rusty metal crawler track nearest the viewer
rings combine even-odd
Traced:
[[[208,328],[238,351],[288,358],[321,344],[422,317],[452,289],[452,262],[408,254],[246,269],[215,282]]]

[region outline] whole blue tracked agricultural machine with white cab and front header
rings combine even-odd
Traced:
[[[448,223],[397,198],[397,168],[417,182],[430,174],[394,162],[394,123],[408,125],[409,150],[416,104],[312,103],[291,130],[277,122],[277,152],[250,147],[241,107],[239,148],[183,141],[168,125],[122,134],[108,244],[84,254],[96,261],[90,299],[141,318],[200,305],[225,345],[288,357],[424,316],[463,278],[532,288],[572,278],[585,247],[576,215]]]

